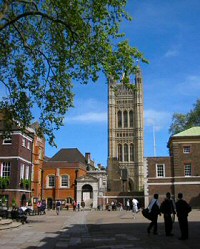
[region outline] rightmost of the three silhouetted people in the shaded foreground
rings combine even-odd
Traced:
[[[176,202],[176,212],[181,231],[180,240],[188,239],[188,213],[191,212],[191,206],[183,200],[183,194],[178,194],[178,201]]]

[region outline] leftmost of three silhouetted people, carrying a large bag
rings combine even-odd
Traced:
[[[158,215],[160,215],[160,203],[158,201],[158,194],[154,194],[154,198],[151,200],[148,206],[149,212],[151,213],[151,223],[147,228],[147,233],[150,234],[153,229],[153,234],[158,234]]]

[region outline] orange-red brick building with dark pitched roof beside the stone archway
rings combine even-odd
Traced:
[[[56,200],[71,203],[76,200],[76,180],[87,174],[87,154],[84,157],[76,148],[61,149],[43,166],[41,199],[53,208]]]

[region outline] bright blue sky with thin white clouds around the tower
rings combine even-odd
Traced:
[[[200,93],[200,1],[129,0],[132,22],[121,31],[150,61],[144,79],[145,156],[168,156],[173,113],[187,113]],[[95,163],[107,165],[107,85],[75,84],[75,108],[56,133],[58,148],[47,144],[47,156],[61,148],[90,152]],[[154,132],[153,132],[154,130]],[[154,140],[155,138],[155,140]],[[155,143],[154,143],[155,141]]]

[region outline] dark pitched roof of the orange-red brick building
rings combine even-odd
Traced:
[[[85,164],[85,157],[77,148],[61,149],[48,161],[57,162],[82,162]]]

